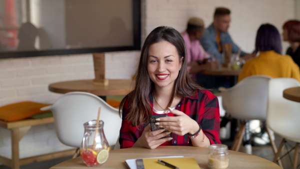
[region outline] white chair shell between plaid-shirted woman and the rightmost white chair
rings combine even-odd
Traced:
[[[244,78],[230,88],[219,88],[226,112],[237,119],[265,119],[268,80],[265,75]]]

